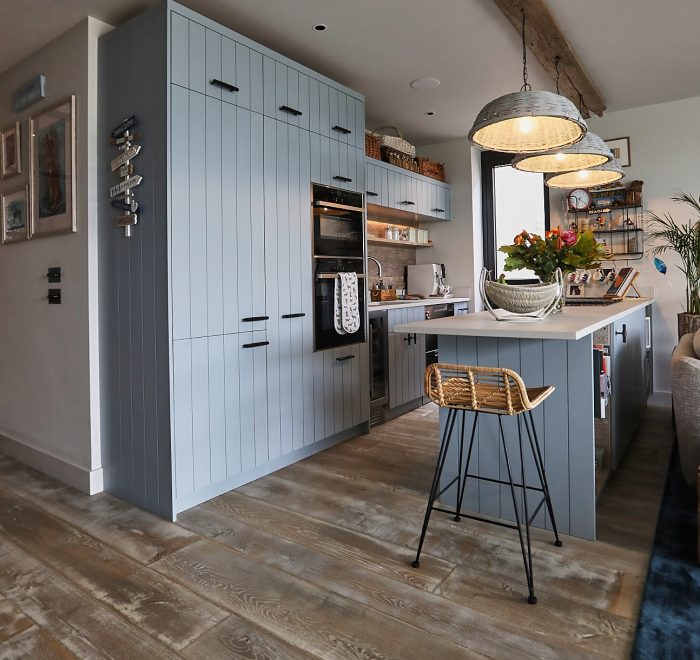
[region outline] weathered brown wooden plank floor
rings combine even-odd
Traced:
[[[435,514],[426,406],[171,524],[0,457],[0,658],[626,658],[672,443],[649,409],[598,542]]]

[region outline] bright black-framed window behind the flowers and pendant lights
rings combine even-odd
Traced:
[[[510,166],[512,154],[481,154],[484,223],[484,266],[494,279],[503,273],[506,255],[501,245],[513,242],[523,229],[544,235],[549,229],[549,193],[544,174],[521,172]],[[535,282],[530,270],[508,273],[508,281]]]

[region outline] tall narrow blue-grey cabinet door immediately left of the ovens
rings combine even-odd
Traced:
[[[310,134],[265,119],[271,458],[314,441]]]

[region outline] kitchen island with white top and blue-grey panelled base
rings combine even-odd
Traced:
[[[398,333],[438,335],[440,362],[489,367],[506,367],[518,372],[527,387],[553,385],[555,392],[533,411],[543,448],[549,488],[560,532],[595,539],[595,419],[593,378],[593,333],[616,324],[611,341],[624,344],[624,351],[640,360],[644,341],[645,309],[649,298],[624,300],[605,306],[568,306],[543,321],[496,321],[488,312],[467,316],[417,321],[397,326]],[[627,328],[641,329],[640,332]],[[623,336],[624,332],[624,336]],[[622,350],[622,349],[621,349]],[[646,394],[640,378],[625,385],[638,399]],[[614,396],[614,394],[613,394]],[[620,413],[622,414],[622,412]],[[440,432],[447,411],[440,411]],[[632,424],[635,420],[625,420]],[[509,454],[517,457],[517,423],[504,418]],[[467,421],[467,424],[469,422]],[[455,429],[455,433],[458,429]],[[498,442],[495,415],[479,419],[470,474],[503,479],[505,461]],[[458,443],[453,442],[443,473],[444,483],[458,470]],[[515,463],[515,465],[512,465]],[[519,473],[519,459],[511,460]],[[526,458],[526,480],[536,482],[534,463]],[[445,504],[455,502],[456,488],[442,496]],[[507,486],[485,481],[467,482],[464,508],[482,515],[514,520],[513,503]],[[542,510],[533,525],[548,527]]]

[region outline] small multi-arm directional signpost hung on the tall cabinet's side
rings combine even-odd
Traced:
[[[131,237],[131,228],[138,222],[136,211],[139,203],[134,199],[134,191],[143,181],[142,176],[134,174],[134,166],[131,163],[131,159],[141,151],[141,145],[133,142],[139,137],[131,130],[135,125],[136,117],[132,115],[112,131],[112,144],[121,153],[112,159],[110,168],[119,175],[121,181],[110,187],[109,196],[112,206],[123,212],[115,219],[114,224],[124,228],[124,236],[127,238]]]

